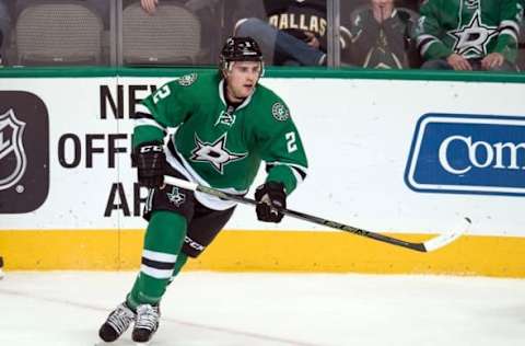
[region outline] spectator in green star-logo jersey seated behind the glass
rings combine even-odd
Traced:
[[[516,0],[427,0],[420,13],[421,68],[516,71]]]

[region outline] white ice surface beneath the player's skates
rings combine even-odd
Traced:
[[[105,345],[135,275],[5,273],[0,345]],[[161,309],[152,346],[525,345],[521,279],[183,272]]]

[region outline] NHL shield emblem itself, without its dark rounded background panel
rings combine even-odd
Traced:
[[[0,115],[0,191],[16,184],[25,173],[27,157],[22,136],[25,123],[16,118],[13,109]]]

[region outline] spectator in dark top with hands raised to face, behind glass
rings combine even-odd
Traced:
[[[402,69],[415,65],[410,33],[417,13],[395,8],[394,0],[370,0],[350,16],[350,64],[365,68]]]

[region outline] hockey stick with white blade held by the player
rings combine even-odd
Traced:
[[[190,191],[194,191],[194,192],[201,192],[201,193],[205,193],[205,194],[208,194],[208,195],[212,195],[212,196],[223,198],[223,199],[230,199],[230,200],[238,201],[238,203],[245,204],[245,205],[250,205],[250,206],[256,206],[257,205],[257,201],[254,200],[254,199],[246,198],[246,197],[243,197],[243,196],[233,195],[233,194],[229,194],[229,193],[224,193],[224,192],[215,189],[215,188],[211,188],[211,187],[202,186],[202,185],[199,185],[199,184],[196,184],[196,183],[183,181],[180,178],[173,177],[173,176],[170,176],[170,175],[164,176],[164,182],[166,184],[178,186],[180,188],[190,189]],[[396,239],[396,238],[392,238],[392,237],[388,237],[388,235],[366,231],[366,230],[363,230],[363,229],[360,229],[360,228],[357,228],[357,227],[353,227],[353,226],[348,226],[348,224],[339,223],[339,222],[336,222],[336,221],[326,220],[326,219],[323,219],[323,218],[319,218],[319,217],[315,217],[315,216],[307,215],[307,214],[300,212],[300,211],[295,211],[295,210],[283,209],[283,208],[276,208],[276,209],[279,212],[282,212],[282,214],[284,214],[289,217],[293,217],[295,219],[301,219],[301,220],[304,220],[304,221],[326,226],[326,227],[329,227],[329,228],[334,228],[336,230],[350,232],[350,233],[353,233],[353,234],[357,234],[357,235],[371,238],[371,239],[377,240],[380,242],[384,242],[384,243],[388,243],[388,244],[393,244],[393,245],[397,245],[397,246],[401,246],[401,247],[406,247],[406,249],[410,249],[410,250],[415,250],[415,251],[419,251],[419,252],[431,252],[431,251],[441,249],[441,247],[452,243],[459,235],[462,235],[464,232],[466,232],[467,229],[471,224],[470,219],[465,217],[465,218],[463,218],[463,224],[464,226],[459,229],[453,230],[452,232],[448,232],[448,233],[443,233],[443,234],[436,235],[436,237],[434,237],[434,238],[432,238],[432,239],[430,239],[425,242],[422,242],[422,243],[411,243],[411,242],[407,242],[407,241],[404,241],[404,240],[400,240],[400,239]]]

